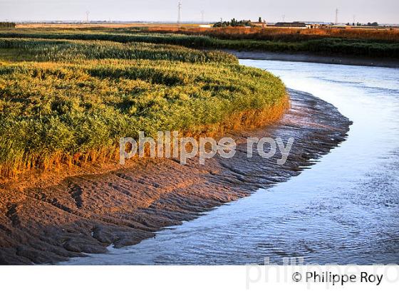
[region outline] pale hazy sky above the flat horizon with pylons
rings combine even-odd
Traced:
[[[0,0],[0,21],[177,21],[178,0]],[[399,24],[399,0],[181,0],[182,21],[251,19]]]

